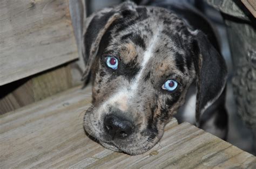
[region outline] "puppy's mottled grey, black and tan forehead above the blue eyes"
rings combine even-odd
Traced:
[[[106,51],[117,54],[125,63],[136,61],[141,65],[150,50],[150,62],[162,72],[177,68],[183,73],[185,66],[190,68],[192,35],[185,22],[162,8],[142,7],[137,14],[132,22],[120,19],[122,24],[113,27]]]

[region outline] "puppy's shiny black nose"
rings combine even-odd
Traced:
[[[107,133],[114,138],[125,138],[133,132],[131,122],[114,115],[104,118],[104,126]]]

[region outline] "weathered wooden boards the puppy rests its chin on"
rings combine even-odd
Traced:
[[[90,93],[76,87],[0,116],[0,168],[256,168],[252,154],[176,119],[149,152],[107,150],[83,130]]]

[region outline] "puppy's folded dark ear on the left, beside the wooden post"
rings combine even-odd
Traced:
[[[83,33],[83,58],[85,62],[85,72],[82,80],[86,80],[90,73],[93,61],[96,58],[98,47],[102,37],[112,23],[123,17],[125,10],[134,10],[136,4],[133,2],[124,2],[113,8],[105,8],[93,13],[89,18],[86,18]]]

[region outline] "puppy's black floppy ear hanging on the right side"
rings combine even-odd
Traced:
[[[227,67],[224,58],[203,32],[195,31],[194,36],[194,66],[197,73],[196,124],[199,126],[204,111],[219,98],[225,88]]]

